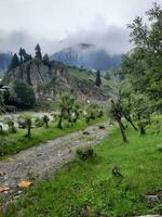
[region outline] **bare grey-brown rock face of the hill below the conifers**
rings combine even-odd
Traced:
[[[68,68],[57,62],[51,66],[43,63],[38,64],[35,61],[24,63],[8,72],[3,82],[10,84],[14,79],[23,80],[32,86],[37,97],[42,100],[54,99],[64,91],[73,92],[82,101],[90,98],[98,101],[107,100],[103,90],[95,87],[93,81],[70,76]]]

